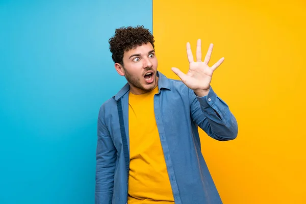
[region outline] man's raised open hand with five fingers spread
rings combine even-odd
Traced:
[[[201,40],[197,40],[196,46],[196,62],[193,60],[190,43],[187,43],[187,58],[189,61],[189,70],[187,74],[183,73],[180,69],[172,67],[172,71],[179,76],[182,82],[192,89],[195,94],[199,97],[208,94],[210,89],[210,83],[212,81],[213,72],[217,67],[221,65],[224,58],[221,58],[212,67],[208,66],[213,51],[213,44],[210,44],[208,52],[204,61],[202,62],[201,57]]]

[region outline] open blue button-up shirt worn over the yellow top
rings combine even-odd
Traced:
[[[176,204],[222,203],[201,154],[198,127],[210,137],[233,140],[238,125],[211,88],[197,97],[181,81],[158,72],[155,118]],[[125,204],[129,178],[129,91],[126,84],[101,107],[97,123],[96,204]]]

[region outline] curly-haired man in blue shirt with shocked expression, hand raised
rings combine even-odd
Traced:
[[[109,40],[115,68],[127,84],[100,108],[95,203],[222,203],[201,154],[197,127],[233,140],[237,121],[210,86],[221,58],[208,66],[213,45],[196,61],[187,43],[189,71],[157,70],[154,37],[141,27],[116,29]]]

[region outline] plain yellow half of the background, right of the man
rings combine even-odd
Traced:
[[[236,140],[201,131],[202,152],[223,203],[306,203],[306,2],[153,1],[159,70],[188,71],[214,43],[212,87],[238,120]],[[202,58],[203,59],[203,58]]]

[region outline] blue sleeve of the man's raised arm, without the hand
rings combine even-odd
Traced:
[[[210,137],[220,141],[233,140],[237,137],[236,118],[212,88],[208,95],[202,97],[189,89],[189,101],[193,121]]]

